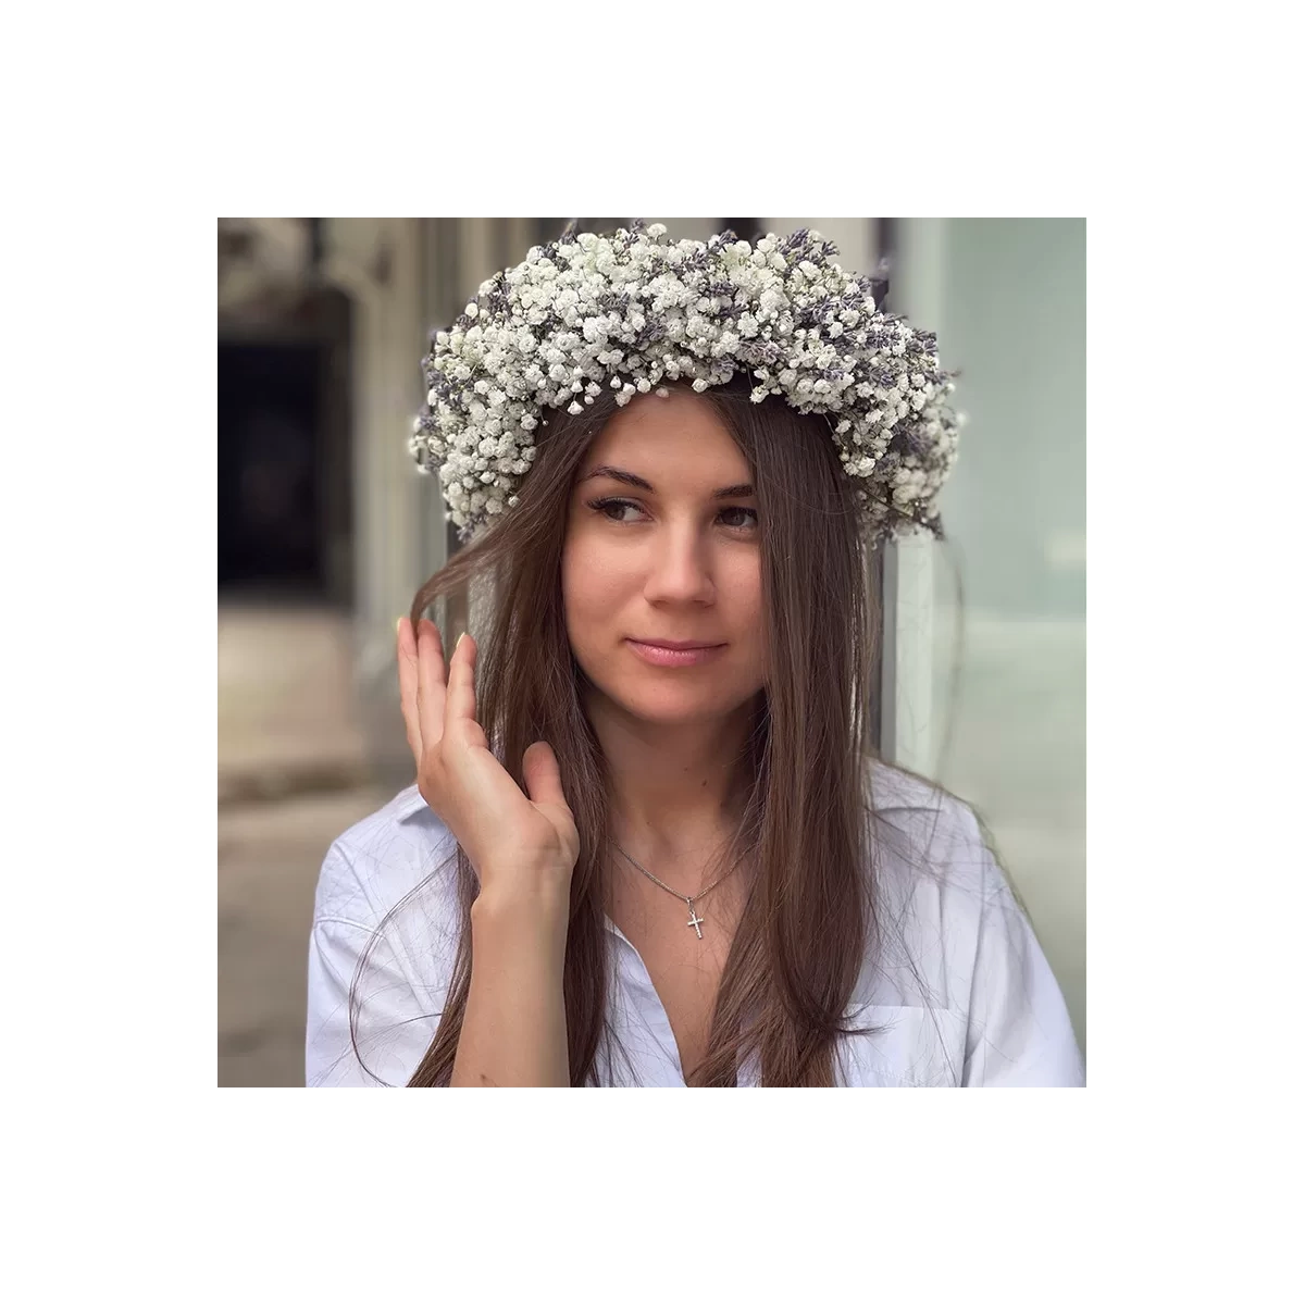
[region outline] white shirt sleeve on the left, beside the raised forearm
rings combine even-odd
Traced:
[[[412,983],[393,930],[331,914],[352,865],[339,843],[322,863],[308,945],[308,1087],[402,1087],[425,1054],[442,1002]],[[352,885],[351,885],[352,886]],[[358,900],[356,889],[352,899]],[[355,984],[350,1021],[350,988]]]

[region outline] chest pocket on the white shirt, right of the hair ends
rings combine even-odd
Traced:
[[[964,1065],[964,1022],[949,1010],[857,1005],[855,1028],[837,1051],[840,1087],[957,1087]]]

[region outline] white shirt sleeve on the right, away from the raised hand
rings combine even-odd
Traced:
[[[970,816],[974,821],[974,816]],[[1006,877],[983,847],[983,904],[970,989],[964,1087],[1082,1087],[1065,998]]]

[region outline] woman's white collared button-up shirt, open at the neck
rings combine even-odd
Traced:
[[[886,928],[847,1014],[856,1027],[883,1026],[883,1032],[839,1041],[838,1086],[1081,1087],[1083,1061],[1065,1001],[974,813],[950,797],[940,804],[932,790],[889,767],[873,769],[872,790],[880,816],[877,903]],[[328,851],[308,954],[309,1087],[402,1086],[416,1069],[453,970],[455,865],[440,869],[375,941],[373,934],[453,846],[414,784]],[[647,968],[611,920],[607,929],[611,1021],[625,1054],[608,1056],[604,1047],[598,1081],[684,1087],[675,1035]],[[369,944],[358,989],[360,1062],[348,990]],[[756,1060],[739,1067],[740,1087],[757,1079]]]

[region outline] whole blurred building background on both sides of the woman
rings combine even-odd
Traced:
[[[394,621],[457,549],[407,453],[427,334],[566,221],[218,219],[222,1086],[303,1086],[322,856],[414,778]],[[846,268],[887,257],[887,308],[962,372],[947,542],[876,562],[878,743],[987,821],[1086,1052],[1086,223],[646,221],[677,239],[808,227]],[[454,632],[483,602],[450,604]]]

